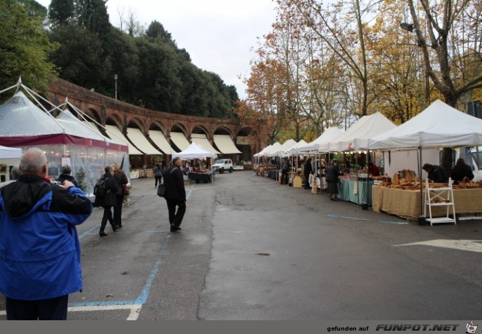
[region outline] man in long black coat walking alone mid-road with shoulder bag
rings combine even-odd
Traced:
[[[180,167],[182,161],[180,157],[172,160],[172,166],[164,174],[164,184],[166,187],[164,198],[169,211],[169,223],[171,232],[179,231],[182,218],[186,212],[186,190],[184,188],[184,177]],[[176,212],[176,206],[178,208]]]

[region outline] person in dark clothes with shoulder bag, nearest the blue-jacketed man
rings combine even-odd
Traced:
[[[114,223],[114,218],[112,217],[112,207],[116,205],[117,191],[116,181],[114,180],[114,168],[112,168],[112,166],[105,166],[104,170],[105,174],[94,187],[94,195],[96,197],[94,206],[101,206],[104,208],[104,215],[101,221],[101,230],[98,232],[98,235],[101,237],[108,235],[108,233],[105,233],[104,231],[107,221],[109,221],[110,225],[112,226],[112,231],[116,232],[116,224]]]

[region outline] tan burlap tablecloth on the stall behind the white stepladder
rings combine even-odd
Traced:
[[[453,192],[456,214],[465,215],[482,212],[482,189],[454,189]],[[422,194],[423,198],[424,194]],[[376,212],[386,212],[402,218],[417,219],[423,214],[423,210],[420,210],[420,200],[420,190],[372,187],[372,208]],[[432,216],[445,216],[446,210],[446,207],[432,207]]]

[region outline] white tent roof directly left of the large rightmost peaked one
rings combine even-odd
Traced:
[[[361,150],[368,148],[368,140],[397,126],[378,111],[360,118],[341,135],[328,144],[330,152]],[[324,145],[322,145],[324,146]]]

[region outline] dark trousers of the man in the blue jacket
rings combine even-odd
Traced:
[[[69,295],[43,300],[6,298],[7,320],[67,320]]]

